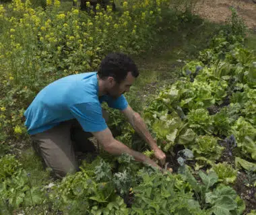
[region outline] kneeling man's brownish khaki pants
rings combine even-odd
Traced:
[[[102,112],[108,120],[106,111]],[[82,130],[77,120],[61,122],[49,130],[31,135],[36,153],[59,178],[79,170],[75,150],[83,153],[96,150],[94,144],[88,141],[91,136],[90,132]]]

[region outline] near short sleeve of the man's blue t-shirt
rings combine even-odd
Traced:
[[[108,127],[100,103],[77,103],[70,107],[70,111],[86,132],[100,132]]]

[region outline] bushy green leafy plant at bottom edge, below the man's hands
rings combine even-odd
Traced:
[[[135,200],[131,214],[205,214],[193,199],[193,193],[186,192],[177,177],[145,172],[139,175],[142,181],[133,188]]]

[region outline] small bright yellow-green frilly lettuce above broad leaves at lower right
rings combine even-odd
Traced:
[[[234,183],[236,181],[237,171],[226,162],[213,165],[212,169],[217,173],[219,181],[224,184]]]

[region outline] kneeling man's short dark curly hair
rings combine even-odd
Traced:
[[[100,63],[98,76],[100,79],[113,77],[117,83],[121,83],[131,72],[133,77],[139,76],[139,71],[135,62],[127,55],[121,52],[113,52],[108,54]]]

